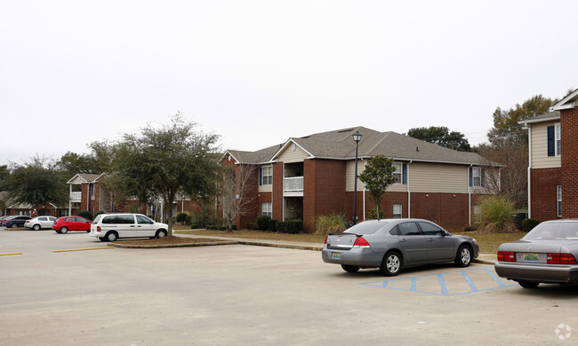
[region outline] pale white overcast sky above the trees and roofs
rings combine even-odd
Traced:
[[[577,1],[3,1],[0,165],[87,153],[181,112],[258,150],[446,126],[578,88]]]

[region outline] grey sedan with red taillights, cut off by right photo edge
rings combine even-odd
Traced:
[[[578,283],[578,220],[553,220],[538,224],[521,240],[498,248],[495,272],[521,287],[540,283]]]

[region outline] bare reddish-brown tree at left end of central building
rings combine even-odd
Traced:
[[[226,169],[221,186],[223,216],[227,230],[232,230],[237,216],[253,212],[257,199],[257,172],[259,167],[241,164]]]

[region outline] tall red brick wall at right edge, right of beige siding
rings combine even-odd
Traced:
[[[560,125],[560,130],[562,131],[562,216],[565,218],[577,218],[578,108],[562,110],[560,112]]]

